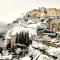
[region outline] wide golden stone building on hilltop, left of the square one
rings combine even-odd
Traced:
[[[45,16],[45,13],[42,9],[33,9],[29,12],[26,13],[26,16],[32,16],[32,17],[40,17],[40,16]]]

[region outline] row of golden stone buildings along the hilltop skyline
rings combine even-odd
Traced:
[[[43,17],[43,16],[60,16],[60,9],[39,7],[26,13],[26,16]]]

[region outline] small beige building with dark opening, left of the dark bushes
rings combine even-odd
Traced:
[[[16,44],[16,35],[10,35],[9,37],[7,37],[4,41],[4,47],[7,48],[13,48],[15,47]]]

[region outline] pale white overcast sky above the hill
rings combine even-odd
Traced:
[[[0,21],[10,23],[22,13],[38,7],[60,8],[60,0],[0,0]]]

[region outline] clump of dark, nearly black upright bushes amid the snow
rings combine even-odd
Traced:
[[[32,43],[31,39],[29,38],[29,33],[22,31],[19,34],[17,34],[16,43],[20,43],[28,47],[29,44]]]

